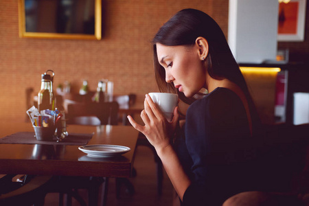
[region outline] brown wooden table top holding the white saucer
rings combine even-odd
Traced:
[[[0,135],[34,131],[30,123],[0,122]],[[133,168],[138,132],[132,126],[76,126],[70,133],[94,133],[89,144],[128,146],[131,150],[112,158],[91,158],[78,146],[0,144],[0,174],[129,177]],[[52,155],[51,155],[52,154]]]

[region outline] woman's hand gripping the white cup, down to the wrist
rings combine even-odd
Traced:
[[[144,110],[141,111],[141,119],[145,126],[137,124],[131,116],[128,116],[128,120],[135,129],[139,130],[139,132],[147,137],[150,144],[152,144],[156,150],[162,150],[170,145],[170,139],[174,136],[174,131],[179,118],[177,112],[178,107],[174,109],[174,117],[172,121],[168,122],[163,116],[159,106],[152,101],[148,94],[146,94],[144,106]]]

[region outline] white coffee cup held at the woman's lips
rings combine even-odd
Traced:
[[[155,104],[159,106],[168,121],[172,121],[174,108],[178,104],[178,95],[175,93],[148,93]]]

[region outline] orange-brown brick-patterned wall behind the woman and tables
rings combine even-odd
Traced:
[[[150,41],[172,14],[197,8],[218,21],[227,34],[227,0],[103,0],[101,41],[19,38],[18,1],[0,1],[0,114],[25,118],[25,89],[41,86],[52,69],[54,84],[65,80],[79,89],[82,80],[96,89],[98,80],[114,82],[118,94],[157,91]],[[19,121],[18,120],[18,121]]]

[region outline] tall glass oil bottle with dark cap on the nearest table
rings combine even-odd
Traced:
[[[52,110],[51,100],[52,77],[49,74],[42,74],[41,90],[38,92],[38,111],[45,109]]]

